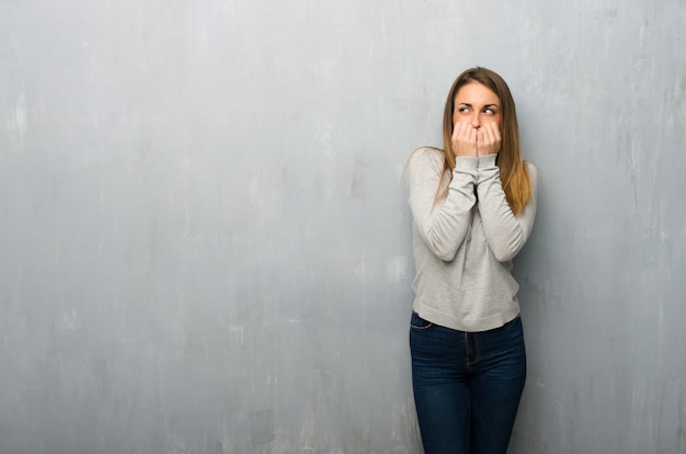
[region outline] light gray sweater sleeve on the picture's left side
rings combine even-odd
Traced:
[[[410,209],[421,239],[433,254],[451,261],[465,240],[471,225],[472,208],[477,203],[477,158],[458,157],[448,186],[447,197],[434,200],[443,159],[435,159],[433,151],[420,149],[409,162]]]

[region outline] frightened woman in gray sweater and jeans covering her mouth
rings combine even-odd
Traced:
[[[512,259],[534,226],[537,172],[510,89],[489,69],[453,84],[443,139],[408,161],[422,443],[426,454],[505,453],[526,377]]]

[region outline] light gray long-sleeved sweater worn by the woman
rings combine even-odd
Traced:
[[[495,155],[458,157],[447,197],[434,205],[443,162],[443,151],[434,148],[420,148],[408,162],[416,270],[413,310],[460,331],[499,328],[519,314],[512,259],[534,227],[536,167],[527,162],[534,196],[515,216]]]

